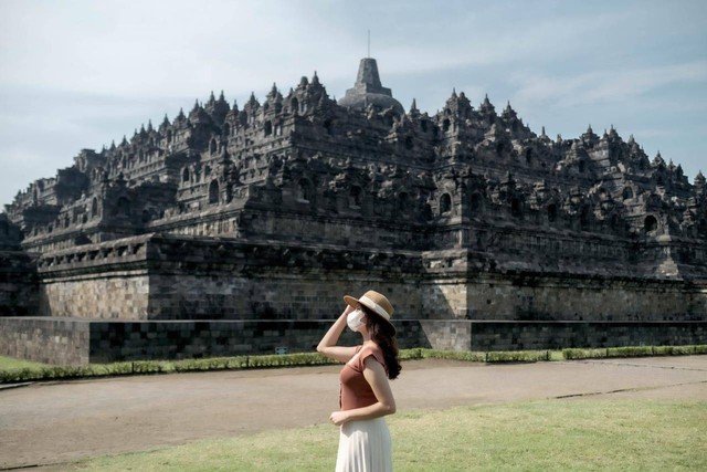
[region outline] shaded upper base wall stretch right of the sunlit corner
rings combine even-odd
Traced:
[[[707,319],[704,283],[597,275],[479,274],[469,277],[466,294],[471,319]]]

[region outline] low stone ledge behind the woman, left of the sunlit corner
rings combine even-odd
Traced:
[[[182,359],[310,353],[334,319],[150,321],[0,318],[0,355],[49,364],[83,365],[141,359]],[[397,322],[402,348],[426,346],[416,322]],[[341,344],[360,343],[346,331]]]

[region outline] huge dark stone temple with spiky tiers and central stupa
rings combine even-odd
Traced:
[[[344,294],[403,347],[707,343],[707,187],[613,126],[538,135],[376,60],[223,94],[30,183],[0,214],[0,354],[82,364],[305,352]]]

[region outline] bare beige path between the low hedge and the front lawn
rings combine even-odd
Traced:
[[[338,408],[338,369],[124,377],[0,390],[0,470],[326,422]],[[587,395],[707,400],[707,356],[530,365],[419,360],[404,363],[392,386],[401,411]]]

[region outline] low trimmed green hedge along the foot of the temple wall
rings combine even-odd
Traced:
[[[707,354],[707,345],[639,346],[602,349],[563,349],[562,359],[595,359],[609,357],[678,356]],[[450,359],[472,363],[536,363],[557,358],[550,350],[451,352],[437,349],[403,349],[402,360]],[[189,373],[200,370],[233,370],[270,367],[302,367],[338,364],[318,353],[268,356],[214,357],[183,360],[136,360],[131,363],[91,364],[87,366],[41,366],[0,370],[0,384],[31,380],[59,380],[120,375]]]

